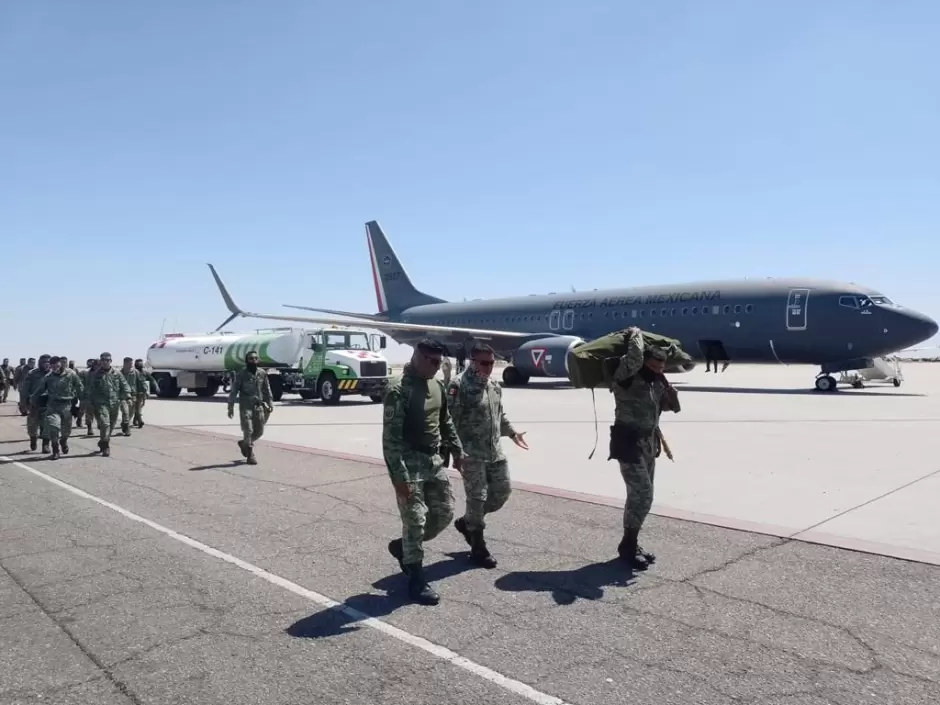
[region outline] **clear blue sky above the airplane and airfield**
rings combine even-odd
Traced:
[[[0,4],[0,356],[236,300],[847,279],[940,317],[940,3]],[[263,325],[250,321],[241,330]]]

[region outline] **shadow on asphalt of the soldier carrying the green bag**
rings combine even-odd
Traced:
[[[633,571],[615,558],[574,570],[529,570],[507,573],[494,584],[507,592],[550,592],[559,605],[581,598],[599,600],[605,587],[629,587],[636,582]]]

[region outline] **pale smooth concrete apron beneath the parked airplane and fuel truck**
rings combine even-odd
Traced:
[[[653,511],[940,564],[940,466],[931,460],[940,365],[906,364],[903,373],[899,388],[873,382],[834,394],[811,391],[816,370],[802,366],[673,376],[683,410],[663,419],[675,463],[658,464]],[[531,447],[505,443],[514,481],[622,506],[623,482],[607,461],[613,401],[604,391],[594,397],[596,405],[589,391],[550,380],[505,390],[507,413]],[[240,434],[224,403],[188,397],[147,409],[156,424]],[[379,459],[381,424],[368,399],[324,407],[285,397],[266,437]]]

